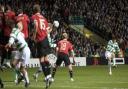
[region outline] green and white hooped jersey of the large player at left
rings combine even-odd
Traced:
[[[24,34],[18,28],[13,28],[10,34],[9,44],[12,45],[14,43],[16,44],[17,49],[28,46],[24,39]]]

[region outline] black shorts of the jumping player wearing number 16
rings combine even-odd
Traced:
[[[47,37],[44,40],[37,42],[37,55],[39,58],[47,56],[50,52],[51,48]]]

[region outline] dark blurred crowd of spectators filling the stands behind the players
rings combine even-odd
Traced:
[[[61,39],[60,34],[66,31],[69,40],[74,45],[77,57],[91,57],[98,54],[104,57],[105,46],[94,43],[83,34],[70,28],[70,16],[79,16],[84,20],[84,26],[109,40],[111,33],[118,37],[120,48],[124,56],[128,57],[128,1],[127,0],[0,0],[0,6],[9,5],[16,13],[19,8],[29,17],[32,16],[32,7],[35,3],[40,4],[42,14],[49,22],[58,20],[59,28],[52,32],[52,38],[57,42]],[[29,25],[31,33],[31,24]],[[30,35],[30,34],[29,34]],[[29,39],[32,57],[36,57],[34,42]]]

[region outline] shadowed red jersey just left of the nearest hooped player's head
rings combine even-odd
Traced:
[[[6,13],[5,13],[5,23],[7,23],[7,21],[11,19],[11,20],[15,20],[15,13],[13,11],[10,11],[8,10]],[[4,27],[4,36],[10,36],[10,33],[11,33],[11,28],[5,24],[5,27]]]

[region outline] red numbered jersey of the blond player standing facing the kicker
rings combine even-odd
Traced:
[[[59,41],[57,45],[59,48],[58,52],[62,52],[65,54],[68,54],[68,52],[73,49],[73,45],[67,39]]]

